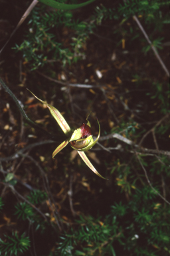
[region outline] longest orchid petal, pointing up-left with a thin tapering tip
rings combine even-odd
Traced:
[[[29,89],[27,89],[28,91],[30,91]],[[30,91],[31,92],[31,91]],[[31,92],[32,93],[32,92]],[[32,93],[34,96],[35,94]],[[36,99],[38,99],[39,101],[41,101],[43,104],[45,104],[48,109],[50,110],[50,113],[52,115],[52,117],[54,117],[54,119],[57,121],[58,125],[60,125],[60,128],[62,129],[62,131],[69,136],[70,135],[70,126],[68,125],[68,123],[66,122],[66,120],[64,119],[64,117],[61,115],[61,113],[52,105],[47,104],[46,102],[42,101],[41,99],[39,99],[37,96],[35,96]]]

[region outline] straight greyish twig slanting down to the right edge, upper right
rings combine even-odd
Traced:
[[[151,43],[147,33],[145,32],[145,30],[143,29],[139,19],[137,19],[137,17],[135,15],[133,15],[133,19],[135,20],[135,22],[137,23],[139,29],[141,29],[141,32],[143,33],[145,39],[147,40],[147,43],[149,43],[149,45],[151,45],[151,49],[153,50],[153,53],[155,53],[155,56],[157,57],[159,63],[161,64],[161,67],[164,69],[165,73],[167,74],[167,76],[169,77],[169,71],[167,69],[167,67],[165,66],[165,64],[163,63],[161,57],[159,56],[159,54],[157,53],[157,50],[155,49],[154,45]]]

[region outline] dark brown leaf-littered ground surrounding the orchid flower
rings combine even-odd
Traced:
[[[16,2],[13,10],[4,13],[5,21],[0,20],[1,47],[24,10],[25,5],[17,5]],[[131,26],[131,23],[135,21],[131,19],[126,26]],[[112,21],[107,20],[90,35],[84,47],[86,59],[65,67],[60,62],[54,63],[52,74],[55,75],[51,77],[48,68],[30,71],[21,53],[11,49],[16,42],[23,40],[26,28],[27,21],[1,54],[0,77],[19,99],[29,118],[51,136],[27,124],[13,99],[1,87],[0,193],[4,207],[0,237],[16,230],[22,234],[29,229],[28,223],[18,219],[14,213],[15,205],[26,201],[31,191],[46,191],[48,197],[37,205],[37,209],[42,213],[42,219],[48,216],[48,221],[54,223],[58,230],[72,225],[79,215],[107,215],[110,205],[120,200],[128,202],[133,193],[119,183],[116,167],[122,163],[130,165],[136,150],[143,154],[146,149],[150,154],[169,151],[169,130],[162,136],[154,132],[159,125],[169,123],[169,109],[164,113],[159,111],[163,103],[157,93],[157,87],[168,83],[169,77],[153,51],[142,53],[142,43],[136,45],[135,41],[123,41],[117,46],[113,34],[115,28]],[[63,41],[66,41],[67,33],[69,31],[64,31]],[[161,34],[167,38],[167,31]],[[159,55],[167,65],[166,46]],[[160,95],[167,91],[166,86],[165,90],[160,89]],[[66,136],[48,109],[27,88],[56,107],[73,130],[86,122],[91,111],[92,135],[96,137],[98,118],[100,140],[86,155],[108,181],[92,173],[70,145],[60,151],[55,160],[52,159],[52,152]],[[137,177],[135,166],[131,168]],[[9,173],[13,176],[10,177]],[[118,193],[118,189],[123,192]],[[42,244],[46,239],[44,235],[41,241],[36,239],[36,243]],[[54,241],[46,244],[48,247],[44,250],[48,251]],[[41,255],[41,246],[37,245],[37,248],[38,255]]]

